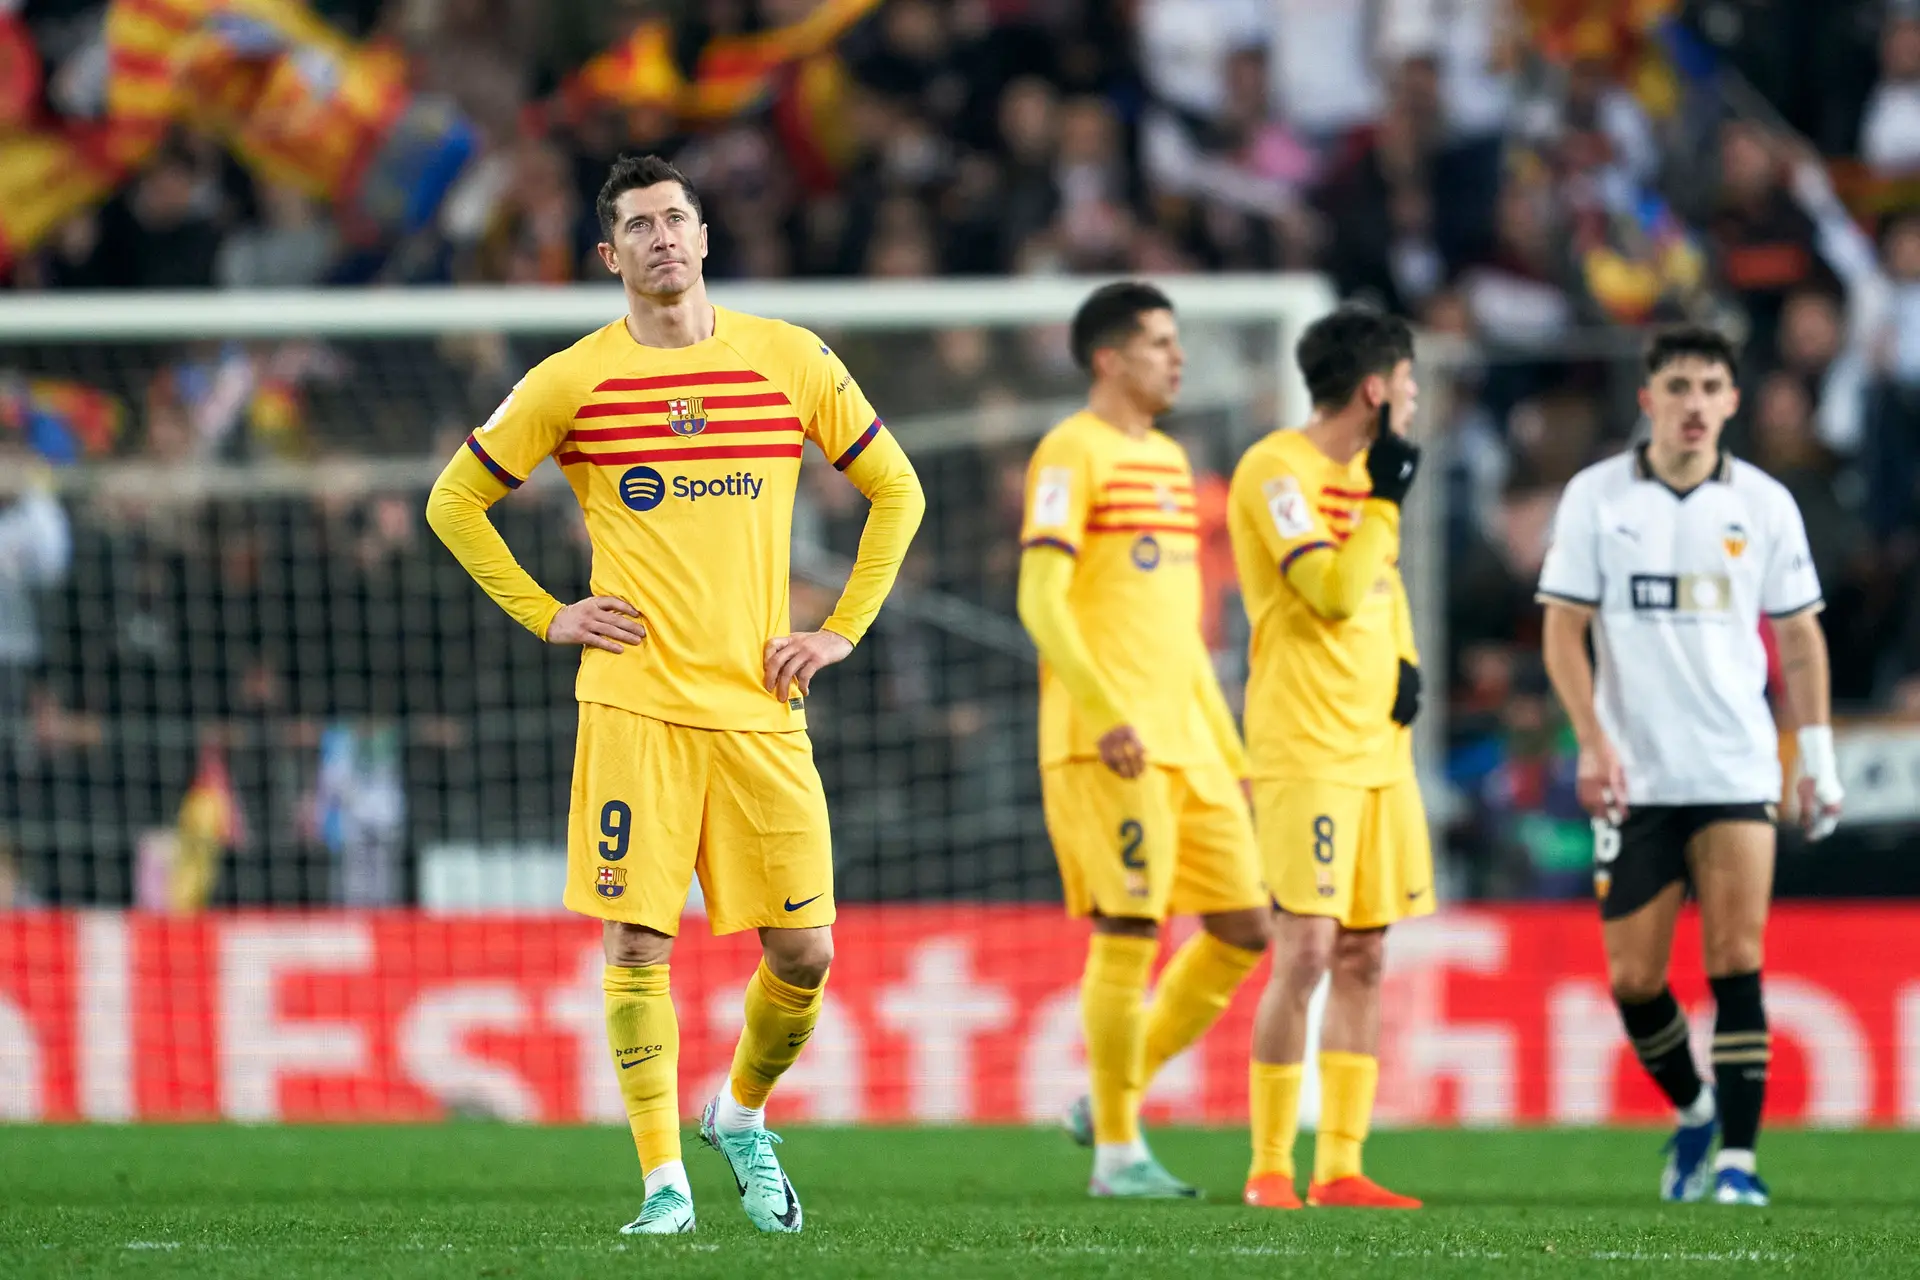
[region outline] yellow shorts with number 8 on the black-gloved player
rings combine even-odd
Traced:
[[[1427,808],[1411,777],[1388,787],[1254,779],[1254,825],[1273,902],[1384,929],[1434,910]]]

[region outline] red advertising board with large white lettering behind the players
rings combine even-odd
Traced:
[[[672,983],[695,1111],[756,944],[689,925]],[[1056,910],[845,908],[835,942],[780,1121],[1041,1121],[1079,1092],[1085,929]],[[1674,986],[1705,1040],[1697,954],[1688,921]],[[0,915],[0,1119],[618,1121],[599,967],[597,923],[572,917]],[[1776,1123],[1920,1125],[1920,908],[1786,906],[1766,975]],[[1244,1121],[1252,1007],[1248,986],[1167,1067],[1150,1119]],[[1380,1057],[1386,1125],[1661,1115],[1584,906],[1396,929]]]

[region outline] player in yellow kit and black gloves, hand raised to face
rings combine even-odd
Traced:
[[[1246,1203],[1298,1209],[1294,1134],[1308,1000],[1321,1023],[1321,1125],[1308,1203],[1415,1209],[1361,1174],[1379,1082],[1386,927],[1434,906],[1407,725],[1419,654],[1400,581],[1400,503],[1419,447],[1413,334],[1342,307],[1300,338],[1313,418],[1240,459],[1229,532],[1254,624],[1246,745],[1273,894],[1273,973],[1254,1023]]]

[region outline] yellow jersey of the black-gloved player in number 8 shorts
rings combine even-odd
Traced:
[[[1340,464],[1294,430],[1256,443],[1233,472],[1227,528],[1254,624],[1254,777],[1386,787],[1413,775],[1411,731],[1392,720],[1400,660],[1419,662],[1400,507],[1371,493],[1365,453]]]

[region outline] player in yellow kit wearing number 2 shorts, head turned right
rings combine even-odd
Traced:
[[[1194,478],[1154,428],[1181,344],[1167,297],[1096,290],[1073,317],[1087,409],[1027,470],[1020,618],[1041,651],[1041,798],[1068,912],[1092,917],[1081,981],[1091,1092],[1068,1130],[1089,1192],[1190,1197],[1140,1138],[1154,1073],[1227,1007],[1267,944],[1246,752],[1200,631]],[[1146,981],[1167,913],[1202,929]]]

